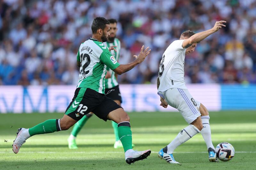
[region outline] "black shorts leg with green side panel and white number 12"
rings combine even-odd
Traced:
[[[90,113],[99,105],[104,97],[95,90],[88,88],[77,88],[75,95],[68,105],[65,115],[79,121],[84,115]]]

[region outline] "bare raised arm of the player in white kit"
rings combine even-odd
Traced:
[[[217,32],[220,28],[222,28],[222,26],[225,27],[226,25],[224,25],[223,23],[226,23],[226,21],[217,21],[215,25],[212,27],[212,29],[203,32],[198,32],[195,35],[192,35],[190,38],[185,39],[182,43],[182,47],[188,48],[189,46],[192,46],[192,44],[202,41],[214,32]]]

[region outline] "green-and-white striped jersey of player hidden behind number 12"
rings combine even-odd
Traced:
[[[120,56],[120,49],[121,49],[121,43],[119,39],[115,38],[112,43],[104,42],[103,44],[107,47],[117,46],[116,47],[117,52],[115,52],[115,50],[111,50],[110,53],[115,57],[116,61],[118,61]],[[109,69],[109,67],[107,67],[107,71],[111,74],[111,77],[108,79],[105,79],[105,88],[111,89],[113,87],[116,87],[118,85],[118,82],[116,80],[115,72]]]

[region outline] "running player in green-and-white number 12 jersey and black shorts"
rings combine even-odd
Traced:
[[[84,41],[77,52],[77,66],[80,67],[79,81],[75,95],[61,119],[49,119],[32,128],[18,129],[13,141],[12,150],[18,153],[28,138],[37,134],[68,130],[84,115],[93,112],[104,121],[112,120],[118,124],[118,137],[124,147],[125,161],[131,164],[147,158],[151,151],[134,151],[132,149],[132,131],[130,117],[124,109],[105,95],[105,76],[107,67],[116,74],[123,74],[145,60],[150,53],[149,47],[141,47],[136,59],[129,64],[119,64],[103,42],[110,35],[109,21],[96,17],[92,22],[92,38]],[[104,156],[103,156],[104,157]]]

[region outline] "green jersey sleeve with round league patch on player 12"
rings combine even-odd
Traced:
[[[115,57],[107,50],[103,50],[100,55],[100,61],[103,62],[111,70],[116,69],[120,64],[116,61]]]

